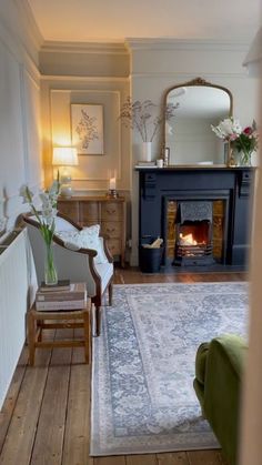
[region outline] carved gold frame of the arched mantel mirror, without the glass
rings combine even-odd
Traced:
[[[230,98],[229,118],[233,117],[233,94],[228,88],[225,88],[223,85],[213,84],[212,82],[205,81],[202,78],[195,78],[195,79],[192,79],[191,81],[182,82],[180,84],[177,84],[177,85],[173,85],[173,87],[169,88],[164,93],[163,159],[165,158],[165,149],[168,149],[167,138],[165,138],[165,109],[167,109],[167,104],[168,104],[169,93],[174,89],[185,88],[185,87],[198,87],[198,85],[199,87],[208,87],[208,88],[220,89],[220,90],[223,90],[224,92],[226,92],[229,98]],[[169,151],[169,163],[168,163],[168,165],[169,166],[181,166],[181,164],[171,164],[170,163],[170,151]],[[195,164],[192,163],[192,165],[195,165]]]

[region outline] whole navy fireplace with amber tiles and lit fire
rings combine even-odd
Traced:
[[[137,171],[139,246],[162,237],[165,252],[162,265],[214,262],[220,266],[245,267],[252,224],[253,168],[168,166]]]

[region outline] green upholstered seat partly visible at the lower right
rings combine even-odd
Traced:
[[[230,465],[236,464],[241,375],[246,353],[243,338],[223,335],[199,346],[194,390]]]

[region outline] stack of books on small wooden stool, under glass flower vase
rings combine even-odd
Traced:
[[[59,283],[56,286],[41,284],[36,294],[39,312],[79,310],[87,306],[85,283]]]

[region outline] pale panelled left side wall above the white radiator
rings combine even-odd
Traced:
[[[0,215],[6,231],[21,212],[20,186],[42,182],[40,144],[41,38],[23,0],[1,0],[0,10]],[[2,231],[3,233],[3,231]]]

